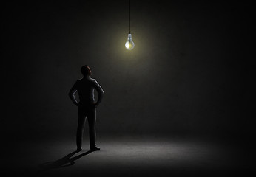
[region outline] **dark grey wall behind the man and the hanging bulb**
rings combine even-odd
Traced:
[[[10,2],[3,7],[1,131],[74,133],[67,93],[87,64],[105,91],[104,133],[252,130],[251,4]]]

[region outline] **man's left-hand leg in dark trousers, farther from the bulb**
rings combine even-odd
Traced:
[[[84,133],[84,123],[86,118],[86,110],[78,106],[78,128],[76,131],[76,146],[77,150],[81,150]]]

